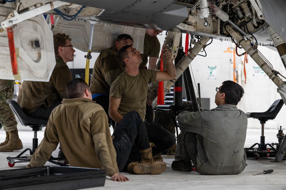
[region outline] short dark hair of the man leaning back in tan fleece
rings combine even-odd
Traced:
[[[85,89],[88,89],[88,91],[90,91],[88,84],[86,83],[86,81],[84,81],[83,78],[72,79],[67,83],[67,85],[65,85],[65,89],[67,91],[67,97],[69,97],[69,99],[83,97]]]

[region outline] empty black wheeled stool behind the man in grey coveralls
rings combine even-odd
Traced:
[[[255,159],[258,159],[260,155],[265,155],[265,157],[269,157],[270,153],[277,153],[277,149],[275,149],[271,144],[265,144],[265,136],[264,136],[264,124],[269,119],[275,119],[279,111],[281,110],[284,102],[282,99],[276,100],[267,111],[265,112],[248,112],[246,113],[248,118],[258,119],[261,123],[261,137],[260,143],[255,143],[250,148],[245,148],[246,153],[254,153]],[[258,145],[258,149],[253,149],[255,145]],[[267,150],[267,146],[269,146],[269,152]]]

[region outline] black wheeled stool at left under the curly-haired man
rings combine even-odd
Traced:
[[[22,151],[19,155],[17,155],[16,157],[9,157],[9,156],[7,157],[9,167],[13,167],[16,162],[29,162],[31,160],[33,153],[36,151],[38,147],[37,131],[39,131],[39,128],[45,127],[48,123],[48,120],[37,119],[37,118],[28,116],[27,114],[24,113],[24,111],[21,109],[21,107],[15,100],[6,100],[6,102],[9,104],[9,106],[11,107],[12,111],[15,113],[15,115],[17,116],[21,124],[24,126],[31,127],[34,131],[32,149],[27,148],[24,151]],[[27,156],[22,156],[26,151],[30,151],[30,154],[27,154]],[[58,159],[59,158],[51,157],[50,160],[58,160]],[[19,161],[15,161],[15,160],[19,160]],[[51,162],[54,163],[54,161],[51,161]]]

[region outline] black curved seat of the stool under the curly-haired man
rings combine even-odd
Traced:
[[[10,105],[11,109],[15,113],[15,115],[20,120],[21,124],[24,126],[29,126],[33,128],[33,125],[47,125],[48,120],[45,119],[37,119],[35,117],[30,117],[19,106],[19,104],[15,100],[6,100],[6,102]]]

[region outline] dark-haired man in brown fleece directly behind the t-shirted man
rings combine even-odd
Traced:
[[[117,58],[117,52],[125,45],[133,46],[133,39],[128,34],[121,34],[117,37],[115,46],[100,53],[94,63],[90,80],[92,100],[101,105],[107,115],[110,85],[124,71],[124,67]]]

